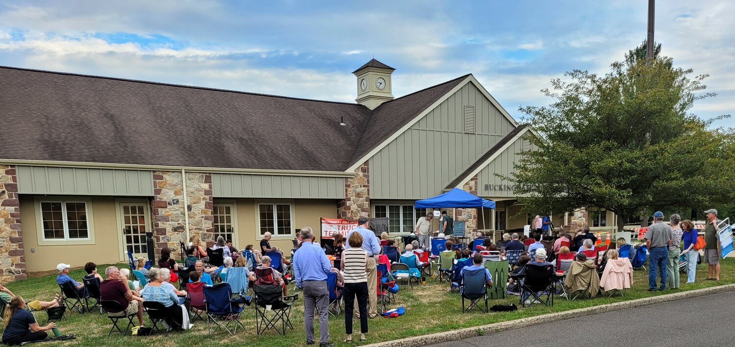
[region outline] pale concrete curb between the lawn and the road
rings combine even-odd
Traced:
[[[537,323],[546,323],[548,321],[559,321],[563,319],[584,317],[585,315],[595,315],[597,313],[612,312],[617,310],[625,310],[633,307],[640,307],[650,304],[659,304],[661,302],[675,301],[682,298],[693,298],[696,296],[706,296],[710,294],[725,293],[735,290],[735,284],[720,285],[717,287],[702,288],[697,290],[687,290],[680,293],[666,294],[662,296],[652,296],[650,298],[638,298],[631,301],[621,301],[614,304],[604,304],[583,309],[569,310],[564,312],[547,313],[545,315],[537,315],[534,317],[520,318],[515,321],[506,321],[500,323],[492,323],[483,326],[473,326],[470,328],[462,328],[451,330],[449,332],[437,332],[431,335],[423,335],[416,337],[406,337],[401,340],[392,340],[381,343],[372,343],[370,347],[417,347],[426,346],[434,343],[442,343],[453,340],[461,340],[467,337],[479,336],[478,332],[484,332],[489,335],[494,332],[503,332],[511,329],[525,328],[533,326]]]

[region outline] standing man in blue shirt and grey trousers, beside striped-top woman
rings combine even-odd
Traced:
[[[319,346],[334,346],[334,343],[329,343],[329,323],[327,321],[329,318],[329,286],[326,284],[326,276],[331,272],[331,265],[323,249],[313,243],[312,228],[309,226],[301,228],[301,239],[304,241],[293,254],[293,275],[296,278],[296,287],[304,291],[306,344],[314,343],[314,310],[316,308],[319,311]]]

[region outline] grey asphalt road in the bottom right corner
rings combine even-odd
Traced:
[[[735,292],[437,343],[456,346],[733,346]]]

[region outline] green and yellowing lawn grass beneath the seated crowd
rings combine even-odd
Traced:
[[[603,298],[598,296],[592,300],[578,299],[567,301],[556,297],[553,307],[545,307],[534,304],[526,309],[519,307],[514,312],[490,312],[482,313],[473,310],[472,313],[462,314],[462,301],[457,293],[448,293],[448,285],[440,284],[436,279],[428,279],[426,285],[414,287],[409,290],[408,286],[401,286],[395,307],[406,307],[406,314],[399,318],[376,318],[369,321],[370,332],[368,341],[363,343],[376,343],[379,341],[395,340],[404,337],[427,335],[435,332],[443,332],[453,329],[479,326],[502,321],[512,321],[518,318],[526,318],[534,315],[543,315],[550,312],[561,312],[575,310],[584,307],[592,307],[600,304],[613,304],[615,302],[659,296],[667,293],[675,293],[684,290],[695,290],[717,285],[726,285],[735,282],[735,259],[728,258],[722,262],[722,273],[720,282],[706,281],[707,266],[699,265],[697,282],[686,284],[686,275],[681,274],[681,288],[678,290],[666,290],[665,292],[650,293],[648,289],[648,273],[646,271],[635,271],[634,286],[627,290],[625,297]],[[123,264],[119,264],[124,266]],[[104,272],[107,265],[99,265],[98,269]],[[80,280],[83,271],[71,272],[74,279]],[[55,275],[26,279],[23,281],[7,284],[7,287],[16,295],[21,295],[25,300],[37,298],[49,300],[59,290],[55,281]],[[291,292],[294,292],[293,288]],[[207,326],[197,321],[192,330],[186,332],[172,332],[168,337],[162,335],[148,337],[132,337],[126,335],[121,337],[112,335],[107,337],[110,330],[110,320],[107,315],[96,312],[79,314],[78,312],[67,312],[63,321],[57,322],[63,334],[74,334],[76,340],[60,342],[61,344],[74,346],[214,346],[221,343],[235,343],[247,346],[306,346],[304,340],[304,311],[303,300],[297,301],[291,312],[291,321],[294,330],[287,330],[286,336],[277,335],[276,332],[265,332],[257,336],[255,334],[254,307],[245,307],[243,311],[243,324],[245,330],[238,330],[237,335],[229,335],[226,332],[215,332],[215,335],[207,335]],[[504,299],[491,300],[493,304],[518,303],[517,296],[506,296]],[[46,312],[35,312],[37,320],[46,322]],[[134,320],[136,321],[136,320]],[[146,316],[146,322],[148,318]],[[359,332],[359,322],[355,322],[356,332]],[[146,325],[150,325],[149,323]],[[318,330],[318,324],[315,324]],[[329,318],[329,332],[331,342],[337,346],[350,346],[343,343],[345,321],[344,315]],[[318,336],[318,332],[316,333]],[[359,339],[359,335],[356,335]],[[359,345],[359,341],[353,343]]]

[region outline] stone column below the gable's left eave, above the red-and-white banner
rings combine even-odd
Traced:
[[[370,217],[370,166],[363,163],[355,169],[355,176],[345,179],[345,199],[337,203],[339,218],[356,221]]]

